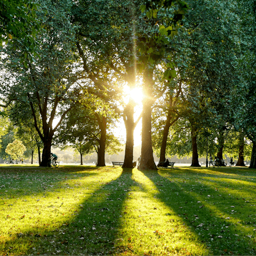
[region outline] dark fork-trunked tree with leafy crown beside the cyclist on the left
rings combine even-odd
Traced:
[[[20,105],[20,110],[30,108],[35,129],[44,144],[41,166],[47,166],[54,132],[75,106],[80,93],[75,83],[79,78],[74,74],[75,28],[68,17],[73,1],[63,0],[61,3],[56,5],[50,0],[42,1],[41,8],[37,10],[38,19],[44,24],[44,29],[38,34],[36,48],[41,58],[36,58],[33,63],[21,64],[20,52],[7,45],[7,56],[3,61],[6,74],[2,93],[11,102]],[[19,44],[15,46],[18,49]],[[13,75],[15,79],[11,78]],[[60,119],[57,126],[53,127],[56,117]]]

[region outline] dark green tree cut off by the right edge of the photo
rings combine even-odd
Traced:
[[[256,130],[255,130],[255,84],[256,84],[256,2],[239,1],[241,24],[241,55],[239,68],[242,79],[230,101],[234,109],[235,127],[252,142],[250,168],[256,168]]]

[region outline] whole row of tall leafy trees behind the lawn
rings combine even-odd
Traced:
[[[238,156],[238,165],[251,147],[256,167],[255,1],[36,0],[16,14],[33,29],[3,3],[1,119],[35,136],[41,166],[52,145],[73,146],[81,157],[94,149],[105,166],[123,118],[124,167],[132,167],[139,119],[137,102],[123,100],[129,86],[144,94],[141,170],[156,169],[153,149],[159,161],[191,154],[199,166],[206,145],[221,159]]]

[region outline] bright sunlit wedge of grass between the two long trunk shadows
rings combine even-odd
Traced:
[[[155,173],[150,175],[154,180]],[[137,169],[133,169],[132,179],[117,236],[118,255],[209,254],[197,234],[158,198],[161,189],[156,185],[161,185],[161,180],[155,185]]]

